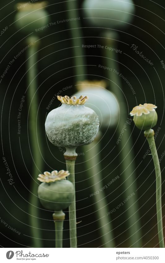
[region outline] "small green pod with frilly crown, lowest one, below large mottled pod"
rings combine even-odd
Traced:
[[[37,178],[40,182],[38,197],[44,208],[51,211],[66,209],[74,200],[74,186],[65,178],[68,171],[44,172]]]

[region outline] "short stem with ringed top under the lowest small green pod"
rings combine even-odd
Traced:
[[[62,210],[55,212],[53,214],[54,224],[55,224],[55,239],[56,248],[63,247],[63,221],[65,219],[65,214]]]

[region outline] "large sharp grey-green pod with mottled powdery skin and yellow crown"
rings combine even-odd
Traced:
[[[99,129],[99,120],[96,112],[84,103],[86,96],[68,96],[58,99],[62,105],[49,112],[45,129],[51,143],[60,147],[74,147],[91,143]]]

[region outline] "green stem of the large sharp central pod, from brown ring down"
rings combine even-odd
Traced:
[[[67,171],[70,175],[67,177],[74,185],[75,191],[75,160],[66,160]],[[76,226],[76,195],[72,204],[69,206],[69,227],[70,227],[70,246],[77,248],[77,226]]]

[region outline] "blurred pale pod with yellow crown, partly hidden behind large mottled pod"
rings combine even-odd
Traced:
[[[105,81],[78,81],[76,87],[82,95],[88,95],[86,106],[93,109],[98,115],[100,129],[118,124],[119,103],[115,95],[106,90]],[[79,96],[79,92],[75,95]]]

